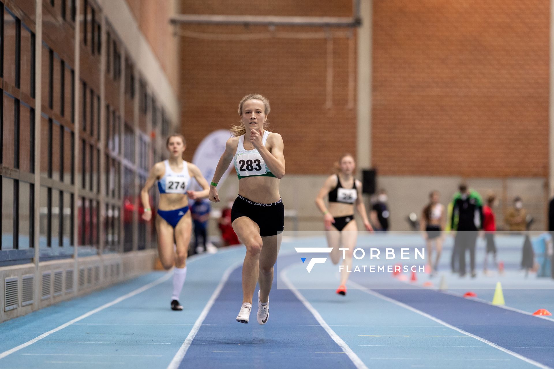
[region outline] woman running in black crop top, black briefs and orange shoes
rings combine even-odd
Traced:
[[[354,204],[358,214],[361,215],[363,225],[367,231],[373,232],[370,221],[367,220],[366,206],[362,200],[362,183],[353,176],[356,163],[350,154],[344,154],[338,159],[337,173],[329,176],[319,194],[315,203],[324,215],[325,235],[327,236],[327,245],[332,247],[331,261],[337,264],[342,252],[341,248],[348,248],[345,253],[345,259],[342,261],[344,266],[341,271],[341,283],[337,288],[337,293],[346,295],[346,281],[348,280],[347,270],[352,267],[352,255],[356,246],[358,236],[358,226],[354,222]],[[325,207],[325,196],[329,196],[329,209]]]

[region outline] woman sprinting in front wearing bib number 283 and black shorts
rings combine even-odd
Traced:
[[[283,138],[266,130],[270,111],[264,96],[244,96],[239,103],[240,124],[225,144],[209,188],[209,200],[219,202],[217,182],[234,161],[239,177],[239,194],[231,209],[233,230],[246,246],[242,269],[243,303],[237,316],[248,323],[256,282],[259,324],[269,318],[269,292],[273,266],[281,246],[285,210],[279,195],[279,179],[285,175]]]

